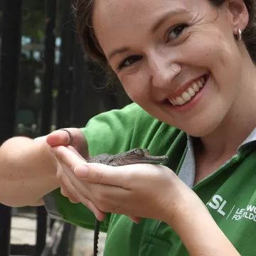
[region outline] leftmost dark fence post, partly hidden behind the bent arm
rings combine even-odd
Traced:
[[[0,144],[13,137],[21,54],[22,0],[3,1],[0,68]],[[11,208],[0,204],[1,256],[10,254]]]

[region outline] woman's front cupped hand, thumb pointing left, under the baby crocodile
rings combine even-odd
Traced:
[[[151,164],[86,164],[75,166],[74,173],[98,185],[93,201],[100,210],[164,222],[176,215],[185,186],[166,166]]]

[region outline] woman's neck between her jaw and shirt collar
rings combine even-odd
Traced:
[[[256,69],[250,63],[243,70],[238,98],[225,119],[196,144],[196,153],[212,161],[236,154],[238,146],[256,127]]]

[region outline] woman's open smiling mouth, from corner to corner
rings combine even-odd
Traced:
[[[188,85],[186,90],[182,92],[178,97],[167,98],[166,102],[170,102],[173,106],[182,106],[187,102],[193,99],[198,92],[201,91],[203,86],[206,84],[209,75],[202,75],[198,80],[191,82],[191,85]]]

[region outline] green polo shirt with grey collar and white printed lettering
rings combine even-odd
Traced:
[[[92,156],[117,154],[135,147],[147,148],[153,155],[168,155],[166,166],[198,194],[238,252],[256,255],[256,129],[240,145],[238,154],[196,186],[191,138],[154,119],[134,103],[99,114],[82,131]],[[53,218],[94,228],[95,218],[90,210],[81,203],[70,203],[60,189],[45,197],[45,206]],[[135,224],[125,215],[108,213],[100,228],[107,232],[105,256],[188,255],[174,230],[158,220],[143,219]]]

